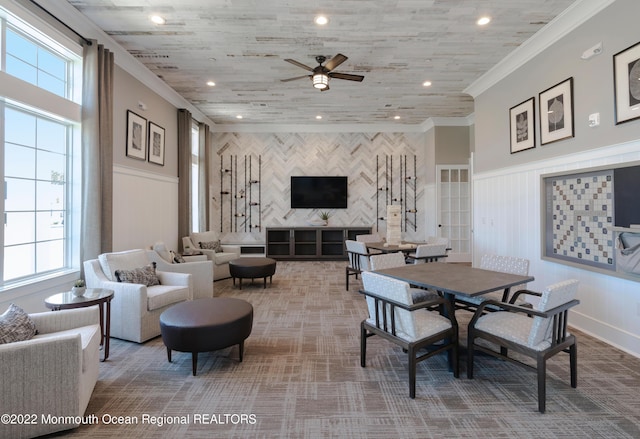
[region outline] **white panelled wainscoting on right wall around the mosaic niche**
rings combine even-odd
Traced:
[[[473,254],[476,265],[484,253],[529,259],[534,290],[567,278],[580,280],[580,305],[570,325],[640,357],[640,282],[542,260],[540,204],[543,174],[638,160],[640,140],[475,174]]]

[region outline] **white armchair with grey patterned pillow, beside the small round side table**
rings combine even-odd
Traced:
[[[118,282],[117,270],[136,270],[150,264],[142,249],[103,253],[84,262],[89,288],[114,291],[111,336],[142,343],[160,335],[160,314],[171,305],[193,298],[193,276],[156,271],[160,285]]]

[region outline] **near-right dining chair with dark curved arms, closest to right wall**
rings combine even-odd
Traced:
[[[537,370],[538,411],[545,412],[546,364],[552,356],[567,352],[571,387],[578,382],[577,341],[567,331],[569,309],[580,302],[575,299],[578,281],[566,280],[548,286],[542,293],[522,290],[516,295],[539,297],[533,308],[516,306],[498,300],[486,300],[476,310],[469,322],[467,334],[467,377],[473,379],[474,351],[484,352],[502,360]],[[485,313],[484,308],[493,305],[501,311]],[[532,317],[530,317],[532,316]],[[485,340],[500,347],[500,352],[479,344]],[[509,351],[533,358],[535,366],[509,356]],[[482,358],[484,361],[484,358]]]

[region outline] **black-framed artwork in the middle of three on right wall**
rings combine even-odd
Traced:
[[[574,137],[573,77],[541,92],[538,103],[541,145]]]

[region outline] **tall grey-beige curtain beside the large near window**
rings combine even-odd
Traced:
[[[80,260],[113,245],[113,53],[84,46]]]

